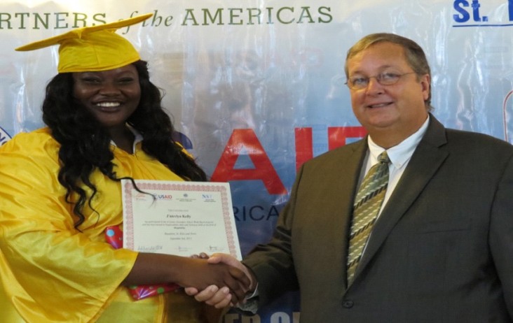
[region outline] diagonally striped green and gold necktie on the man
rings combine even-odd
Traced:
[[[362,258],[364,245],[372,231],[374,222],[385,197],[388,185],[388,164],[386,150],[378,156],[378,164],[371,167],[360,185],[353,206],[353,222],[349,236],[348,286],[353,282],[356,268]]]

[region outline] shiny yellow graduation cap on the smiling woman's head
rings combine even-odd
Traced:
[[[140,57],[128,40],[116,34],[116,29],[137,24],[152,15],[146,13],[109,24],[74,29],[15,50],[37,50],[59,44],[59,73],[117,69],[138,61]]]

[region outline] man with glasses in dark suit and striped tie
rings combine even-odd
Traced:
[[[299,171],[273,238],[238,265],[258,305],[299,289],[302,323],[513,322],[512,146],[445,129],[429,113],[430,68],[408,38],[365,36],[348,51],[346,76],[369,136]],[[357,228],[357,209],[380,193],[355,196],[382,152],[383,199]],[[196,299],[224,305],[223,292]]]

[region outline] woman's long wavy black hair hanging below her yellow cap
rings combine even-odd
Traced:
[[[127,123],[144,137],[142,150],[185,180],[207,180],[205,172],[172,140],[175,128],[161,106],[160,89],[149,80],[147,63],[139,60],[132,64],[139,74],[141,99]],[[123,178],[118,178],[113,170],[114,154],[107,129],[78,103],[73,90],[71,73],[57,74],[46,86],[42,110],[43,122],[60,143],[58,180],[67,191],[66,201],[74,205],[73,213],[78,217],[75,228],[78,228],[86,220],[82,212],[85,203],[91,207],[91,200],[97,194],[95,183],[90,181],[91,173],[98,170],[111,180]],[[92,192],[89,196],[86,187]],[[78,197],[74,198],[74,194]]]

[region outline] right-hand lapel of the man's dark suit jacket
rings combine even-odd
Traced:
[[[432,115],[426,134],[418,144],[411,156],[408,166],[397,183],[387,205],[383,208],[374,229],[372,230],[369,243],[360,260],[355,280],[358,274],[364,270],[369,261],[379,250],[385,238],[395,227],[395,224],[406,213],[406,210],[417,199],[425,185],[435,175],[442,162],[449,155],[446,150],[440,149],[446,143],[445,129]]]

